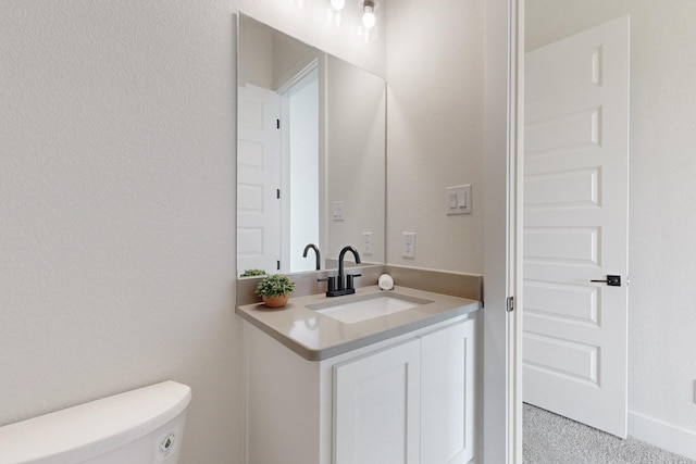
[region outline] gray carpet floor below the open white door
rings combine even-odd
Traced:
[[[629,437],[622,440],[575,421],[524,404],[525,464],[696,464]]]

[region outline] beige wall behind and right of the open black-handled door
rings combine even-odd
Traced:
[[[629,428],[696,437],[696,2],[526,3],[527,50],[631,15]]]

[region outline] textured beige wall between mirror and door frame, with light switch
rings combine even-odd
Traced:
[[[389,2],[387,262],[483,273],[483,0]],[[473,214],[445,188],[472,184]],[[417,256],[401,258],[403,231]]]

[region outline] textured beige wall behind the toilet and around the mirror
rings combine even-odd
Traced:
[[[171,378],[240,462],[233,12],[384,74],[325,4],[0,2],[0,425]]]

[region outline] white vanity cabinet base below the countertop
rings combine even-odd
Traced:
[[[246,462],[468,463],[473,369],[473,318],[323,361],[245,323]]]

